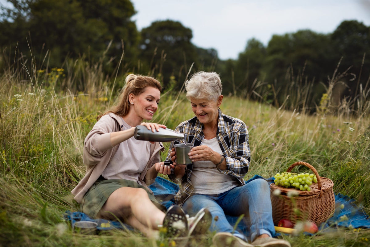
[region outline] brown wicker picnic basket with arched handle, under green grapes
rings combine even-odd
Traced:
[[[335,210],[334,183],[329,178],[320,177],[316,169],[306,162],[292,164],[287,172],[291,172],[295,166],[303,165],[316,175],[317,183],[310,185],[311,191],[300,191],[295,188],[285,188],[275,183],[270,184],[270,196],[272,203],[272,218],[275,226],[282,219],[288,219],[295,224],[297,221],[310,220],[319,226],[330,218]],[[280,190],[280,194],[276,193]],[[289,191],[297,191],[299,196],[293,199],[287,196]],[[297,208],[298,210],[295,210]]]

